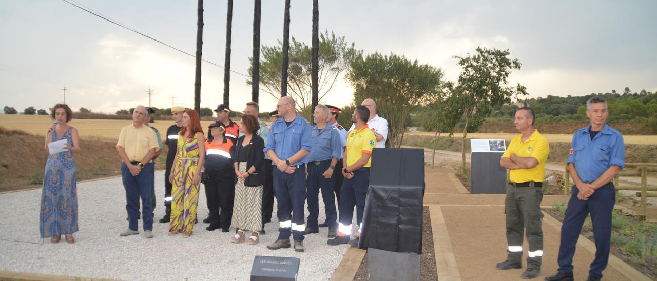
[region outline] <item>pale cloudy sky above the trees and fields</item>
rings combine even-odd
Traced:
[[[194,53],[196,1],[76,0],[117,22]],[[612,89],[657,91],[657,1],[319,1],[319,29],[368,53],[404,54],[457,79],[455,55],[477,46],[509,49],[522,62],[512,83],[531,97],[587,95]],[[292,0],[290,33],[310,42],[312,1]],[[223,65],[225,1],[205,1],[203,58]],[[283,36],[283,0],[262,1],[261,44]],[[248,72],[253,1],[233,7],[231,69]],[[194,58],[60,0],[0,0],[0,107],[114,112],[135,104],[193,106]],[[309,45],[309,44],[308,44]],[[201,106],[223,95],[223,68],[202,66]],[[250,100],[246,77],[231,74],[231,107]],[[171,97],[175,97],[171,100]],[[351,101],[348,83],[323,102]],[[275,99],[260,102],[273,110]]]

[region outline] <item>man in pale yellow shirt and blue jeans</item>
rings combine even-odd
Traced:
[[[139,217],[139,198],[141,197],[141,219],[144,224],[144,236],[153,238],[153,211],[150,187],[153,181],[151,173],[155,164],[150,160],[160,150],[155,131],[144,125],[147,111],[144,106],[137,106],[132,114],[132,124],[121,129],[116,150],[123,161],[121,175],[125,188],[125,209],[127,210],[128,229],[120,236],[139,234],[137,219]]]

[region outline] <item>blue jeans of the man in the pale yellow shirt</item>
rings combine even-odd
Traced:
[[[144,230],[153,229],[153,210],[150,188],[152,184],[152,173],[155,169],[154,163],[147,163],[137,176],[130,173],[125,163],[121,164],[121,175],[125,188],[125,209],[127,210],[128,228],[137,230],[137,217],[139,216],[139,198],[141,197],[141,219],[143,219]]]

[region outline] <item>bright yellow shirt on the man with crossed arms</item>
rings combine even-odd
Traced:
[[[513,183],[524,183],[527,181],[542,182],[545,177],[545,163],[550,146],[547,139],[538,130],[534,130],[527,141],[522,142],[522,135],[514,137],[509,143],[507,151],[502,157],[511,158],[511,154],[520,157],[533,157],[538,160],[538,165],[532,169],[512,169],[509,171],[509,180]]]

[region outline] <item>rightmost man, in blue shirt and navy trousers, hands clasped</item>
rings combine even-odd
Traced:
[[[590,98],[586,108],[591,125],[576,131],[570,144],[568,169],[575,186],[561,226],[559,269],[555,275],[545,278],[549,281],[574,280],[573,256],[579,232],[589,213],[596,251],[587,280],[600,280],[609,261],[612,210],[616,201],[612,179],[625,165],[625,144],[623,136],[606,125],[609,112],[604,98]]]

